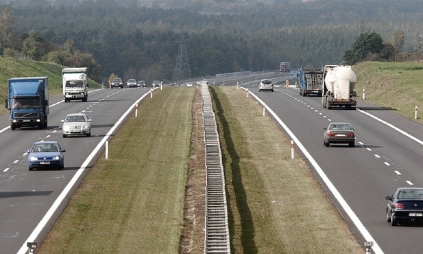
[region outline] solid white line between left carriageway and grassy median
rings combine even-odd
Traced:
[[[104,138],[101,139],[100,143],[97,144],[97,146],[95,147],[93,152],[91,152],[90,155],[84,161],[84,163],[82,163],[81,168],[79,168],[77,170],[76,174],[73,176],[71,181],[66,185],[66,187],[64,187],[62,193],[60,193],[58,198],[56,198],[56,200],[54,201],[53,205],[51,205],[50,209],[47,211],[47,213],[45,213],[45,216],[43,217],[42,220],[40,220],[37,227],[34,229],[34,231],[32,231],[31,235],[29,235],[27,240],[25,240],[25,242],[21,246],[21,249],[19,249],[19,251],[17,252],[18,254],[20,254],[20,253],[24,254],[24,253],[27,253],[27,251],[29,251],[29,249],[27,247],[27,242],[34,242],[36,240],[36,238],[38,237],[40,232],[43,230],[43,228],[45,227],[47,222],[49,222],[51,216],[53,216],[53,213],[58,209],[60,204],[63,202],[64,198],[67,196],[69,191],[72,189],[73,185],[75,185],[78,178],[80,178],[80,176],[82,175],[82,173],[86,169],[86,166],[88,165],[88,163],[90,163],[90,161],[94,158],[95,154],[97,154],[97,152],[99,152],[101,147],[104,145],[104,143],[106,143],[107,139],[114,132],[114,130],[119,126],[119,124],[121,124],[123,119],[125,119],[125,117],[127,115],[129,115],[129,113],[132,111],[132,109],[135,108],[136,104],[138,104],[141,100],[143,100],[144,97],[149,95],[150,92],[151,91],[148,91],[143,96],[141,96],[138,100],[136,100],[136,102],[134,102],[134,104],[132,104],[132,106],[130,106],[130,108],[128,108],[128,111],[126,111],[121,116],[121,118],[118,120],[118,122],[116,122],[116,124],[114,124],[114,126],[107,132],[107,134],[104,136]]]

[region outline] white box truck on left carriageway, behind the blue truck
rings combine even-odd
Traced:
[[[62,69],[62,88],[64,102],[88,100],[88,76],[86,67]]]

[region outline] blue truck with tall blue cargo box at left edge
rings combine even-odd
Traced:
[[[49,115],[49,80],[47,77],[11,78],[8,80],[10,128],[47,128]]]

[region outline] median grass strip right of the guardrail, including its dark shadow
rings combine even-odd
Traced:
[[[289,140],[235,86],[210,86],[234,253],[363,253]]]

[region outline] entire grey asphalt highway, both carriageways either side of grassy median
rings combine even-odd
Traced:
[[[321,97],[302,97],[293,87],[278,87],[274,93],[259,93],[258,80],[266,76],[279,82],[288,78],[274,73],[255,73],[209,79],[208,83],[234,85],[239,82],[274,111],[304,146],[306,154],[310,154],[312,170],[362,243],[374,241],[377,253],[420,253],[422,227],[392,227],[386,220],[385,196],[390,196],[397,187],[423,186],[422,125],[363,100],[359,100],[356,110],[328,110],[322,107]],[[28,239],[33,239],[30,235],[34,236],[37,225],[63,189],[80,174],[64,202],[49,215],[45,227],[36,234],[34,242],[44,238],[64,209],[67,198],[102,150],[90,156],[91,152],[105,137],[111,138],[108,132],[114,124],[148,92],[149,88],[100,89],[90,92],[88,102],[69,103],[64,103],[60,96],[50,97],[49,127],[45,130],[12,131],[7,128],[7,115],[0,117],[0,253],[25,249],[23,246]],[[142,110],[142,104],[139,110]],[[92,136],[63,139],[60,119],[77,112],[85,112],[93,119]],[[356,146],[326,148],[323,128],[330,122],[350,122],[356,130]],[[30,172],[27,169],[26,150],[40,140],[59,141],[67,150],[65,170]],[[298,144],[295,146],[298,148]],[[298,152],[303,153],[299,149]],[[319,174],[319,169],[324,172],[324,177]],[[326,176],[341,200],[325,181]]]

